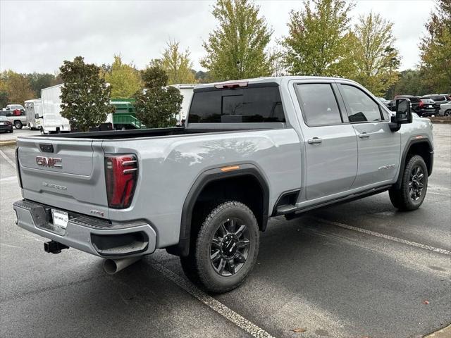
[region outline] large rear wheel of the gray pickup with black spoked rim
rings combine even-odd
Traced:
[[[238,201],[211,210],[197,232],[187,257],[185,275],[207,292],[228,292],[252,271],[259,252],[259,225],[254,213]]]

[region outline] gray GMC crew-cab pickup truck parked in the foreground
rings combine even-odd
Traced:
[[[432,125],[328,77],[201,84],[185,127],[19,137],[19,227],[107,258],[114,273],[166,248],[187,277],[226,292],[251,272],[268,218],[388,190],[424,201]]]

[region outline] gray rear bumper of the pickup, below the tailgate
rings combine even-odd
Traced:
[[[16,201],[13,208],[19,227],[51,239],[44,246],[46,251],[49,250],[47,252],[58,253],[68,246],[103,258],[125,258],[155,251],[156,232],[144,222],[115,226],[105,220],[82,215],[69,218],[66,230],[61,231],[51,223],[49,206],[21,200]]]

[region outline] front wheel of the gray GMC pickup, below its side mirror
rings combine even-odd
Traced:
[[[401,211],[412,211],[423,204],[428,189],[428,168],[424,159],[414,155],[407,161],[400,189],[391,188],[390,201]]]

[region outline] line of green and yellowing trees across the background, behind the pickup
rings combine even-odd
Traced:
[[[193,69],[189,49],[171,40],[159,58],[145,70],[123,63],[99,66],[99,77],[110,85],[111,97],[130,98],[148,87],[143,72],[159,68],[166,84],[240,80],[279,75],[346,77],[373,94],[390,99],[395,94],[451,92],[451,4],[435,0],[436,8],[419,41],[421,61],[400,72],[393,23],[370,12],[350,25],[353,1],[304,0],[303,9],[291,11],[288,35],[270,47],[273,30],[252,0],[217,0],[211,14],[218,25],[204,41],[200,60],[206,71]],[[20,104],[40,96],[40,90],[62,82],[61,75],[0,74],[0,105]]]

